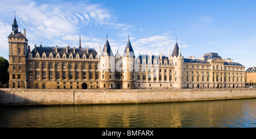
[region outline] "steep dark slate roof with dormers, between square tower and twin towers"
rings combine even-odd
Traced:
[[[88,53],[87,49],[82,48],[82,49],[77,49],[75,48],[75,53],[73,52],[73,48],[68,48],[68,53],[66,53],[67,48],[57,48],[57,53],[60,54],[60,58],[63,57],[63,54],[65,53],[66,56],[69,56],[70,54],[73,55],[73,58],[76,57],[76,54],[79,54],[79,57],[82,58],[82,56],[85,54],[86,58],[90,56],[90,53],[92,53],[93,58],[96,57],[97,52],[96,50],[89,48]],[[39,56],[42,57],[43,53],[46,53],[46,57],[49,57],[49,54],[52,53],[53,57],[56,57],[56,48],[55,47],[36,47],[36,52],[39,53]],[[35,48],[31,51],[32,57],[36,56]]]

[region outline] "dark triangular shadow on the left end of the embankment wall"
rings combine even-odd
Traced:
[[[15,91],[5,91],[0,89],[0,106],[16,106],[16,105],[40,105],[41,103],[35,102],[24,98],[19,95],[15,95]]]

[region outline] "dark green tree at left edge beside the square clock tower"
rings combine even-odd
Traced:
[[[0,87],[3,87],[4,85],[9,85],[9,62],[3,58],[0,57]]]

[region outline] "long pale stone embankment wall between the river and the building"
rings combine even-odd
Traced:
[[[256,98],[256,89],[0,89],[0,105],[138,104],[247,98]]]

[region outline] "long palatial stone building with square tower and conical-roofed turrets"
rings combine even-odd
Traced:
[[[9,42],[9,85],[21,89],[185,89],[245,87],[245,66],[207,53],[184,58],[172,54],[135,57],[130,39],[114,55],[108,37],[100,54],[93,48],[43,47],[31,50],[16,18]]]

